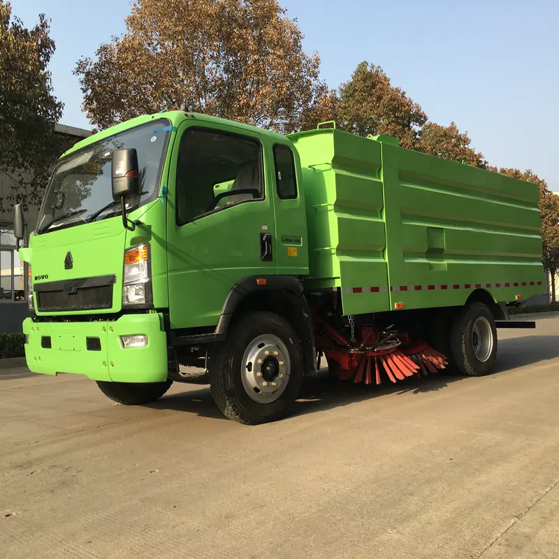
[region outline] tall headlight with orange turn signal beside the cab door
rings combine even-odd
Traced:
[[[146,307],[153,303],[150,245],[132,247],[124,253],[122,305]]]

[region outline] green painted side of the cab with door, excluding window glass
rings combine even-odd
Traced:
[[[229,291],[247,276],[308,274],[302,196],[295,200],[279,200],[275,194],[272,148],[278,143],[291,146],[289,140],[254,127],[201,118],[187,119],[179,126],[170,161],[167,261],[172,328],[215,326]],[[175,200],[180,196],[177,185],[180,141],[192,128],[254,140],[261,148],[264,198],[220,208],[185,224],[177,222]],[[300,182],[300,177],[298,179]],[[183,189],[194,187],[195,184],[180,185]],[[261,233],[272,235],[272,261],[261,260]],[[290,243],[277,242],[288,233],[301,239],[296,256],[288,256]]]

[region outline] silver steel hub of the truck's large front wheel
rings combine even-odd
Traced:
[[[265,334],[254,338],[245,351],[241,366],[242,386],[255,402],[277,400],[289,382],[289,351],[275,335]]]

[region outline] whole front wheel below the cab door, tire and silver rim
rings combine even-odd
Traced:
[[[257,425],[289,413],[303,377],[303,354],[285,319],[253,312],[216,344],[209,369],[217,407],[233,421]]]

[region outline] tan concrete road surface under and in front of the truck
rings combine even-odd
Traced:
[[[500,333],[494,375],[319,379],[252,428],[3,371],[0,557],[558,558],[559,319]]]

